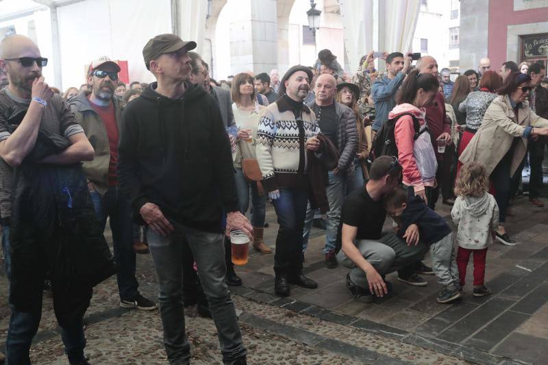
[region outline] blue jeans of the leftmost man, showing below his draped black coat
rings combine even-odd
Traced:
[[[2,247],[4,252],[4,263],[8,280],[11,279],[11,260],[10,260],[10,226],[3,225]],[[55,290],[55,288],[54,288]],[[10,327],[8,336],[5,339],[7,364],[27,365],[30,364],[29,350],[32,338],[38,331],[40,318],[42,318],[42,296],[34,303],[32,310],[23,312],[14,305],[10,305],[12,316],[10,317]],[[58,305],[55,291],[53,292],[53,305]],[[74,320],[70,327],[61,327],[61,338],[63,340],[65,353],[69,357],[69,362],[75,364],[84,361],[84,347],[86,347],[86,338],[84,337],[83,318]]]

